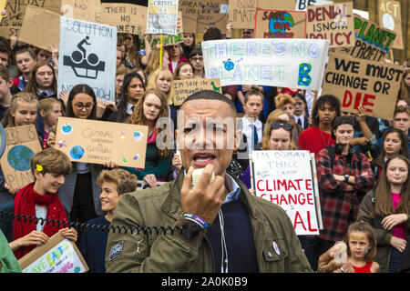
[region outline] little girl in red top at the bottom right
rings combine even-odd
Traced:
[[[344,243],[354,273],[380,273],[379,264],[373,261],[377,247],[372,226],[364,221],[351,224],[344,237]]]

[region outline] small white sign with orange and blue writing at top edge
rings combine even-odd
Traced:
[[[149,0],[147,34],[177,35],[178,0]]]

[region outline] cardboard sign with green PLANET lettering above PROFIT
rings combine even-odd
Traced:
[[[373,21],[354,15],[353,47],[336,48],[336,51],[369,61],[383,61],[390,54],[396,33],[376,25]]]

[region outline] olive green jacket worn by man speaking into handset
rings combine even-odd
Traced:
[[[157,188],[122,196],[112,226],[182,226],[179,190],[183,171],[176,181]],[[296,236],[291,220],[280,206],[251,196],[239,180],[239,199],[248,209],[260,272],[313,272]],[[166,235],[134,231],[110,232],[106,251],[107,272],[214,272],[210,242],[204,233],[187,239],[176,231]],[[280,255],[272,243],[280,248]]]

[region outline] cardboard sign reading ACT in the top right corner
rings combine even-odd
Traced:
[[[405,49],[402,32],[402,12],[400,2],[390,0],[379,0],[379,25],[383,28],[395,31],[397,36],[392,48]],[[407,16],[408,17],[408,16]]]

